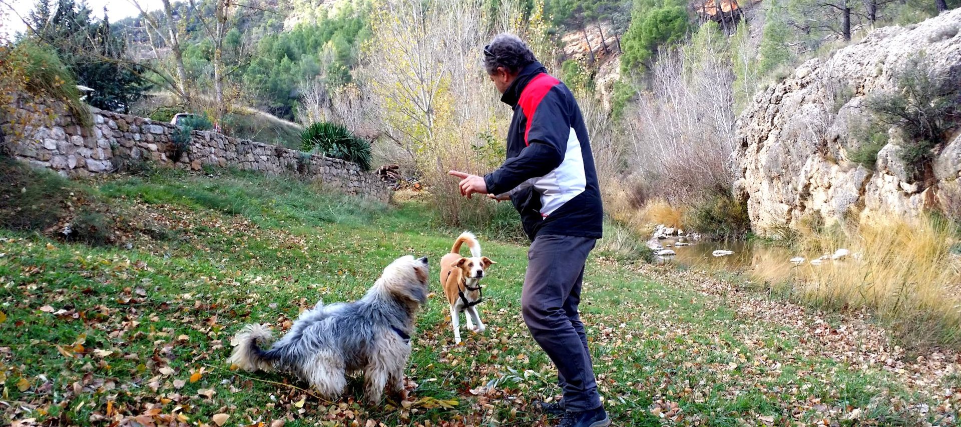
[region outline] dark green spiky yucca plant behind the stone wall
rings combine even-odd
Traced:
[[[308,126],[301,133],[301,150],[352,161],[364,171],[370,170],[370,143],[341,125],[317,122]]]

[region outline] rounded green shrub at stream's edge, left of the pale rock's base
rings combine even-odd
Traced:
[[[684,224],[714,239],[738,239],[751,229],[748,206],[731,196],[727,188],[715,188],[703,202],[686,214]]]

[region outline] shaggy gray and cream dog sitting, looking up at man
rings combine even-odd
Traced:
[[[414,313],[428,296],[427,257],[404,256],[383,269],[367,295],[351,303],[317,305],[301,314],[283,338],[263,350],[272,335],[264,325],[244,326],[231,341],[229,364],[248,371],[287,370],[320,394],[336,398],[347,373],[363,370],[364,397],[381,402],[384,386],[404,391]]]

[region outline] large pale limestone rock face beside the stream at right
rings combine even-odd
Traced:
[[[755,97],[739,119],[729,160],[735,196],[747,201],[754,232],[811,217],[829,224],[849,213],[913,216],[961,202],[951,200],[961,195],[956,130],[934,148],[924,174],[907,172],[899,155],[904,135],[896,127],[883,128],[886,145],[873,169],[850,160],[865,143],[864,126],[877,125],[864,105],[868,97],[897,93],[900,70],[922,57],[941,92],[958,99],[961,10],[913,27],[877,29],[829,59],[804,62]]]

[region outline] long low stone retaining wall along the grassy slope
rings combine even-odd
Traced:
[[[189,148],[173,158],[174,135],[180,131],[177,126],[91,108],[93,123],[86,128],[76,124],[64,108],[34,101],[19,97],[12,108],[2,112],[0,130],[6,149],[14,157],[66,177],[118,172],[139,161],[188,170],[209,164],[270,175],[291,174],[319,180],[342,193],[382,202],[390,199],[386,184],[356,163],[206,130],[194,130]],[[32,120],[26,119],[31,116]]]

